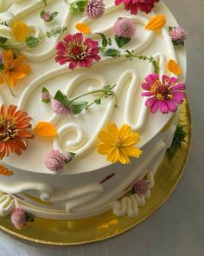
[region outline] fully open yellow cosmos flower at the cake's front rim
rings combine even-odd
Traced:
[[[139,135],[131,132],[131,126],[124,124],[118,129],[116,124],[111,123],[105,130],[99,132],[99,154],[107,154],[107,161],[129,164],[130,156],[138,158],[143,152],[135,147],[139,142]]]

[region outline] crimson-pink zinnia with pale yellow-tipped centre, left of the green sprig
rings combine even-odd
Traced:
[[[61,65],[70,62],[69,68],[80,67],[90,68],[93,61],[99,62],[99,43],[91,38],[84,38],[81,33],[67,35],[64,42],[56,46],[57,56],[55,61]]]

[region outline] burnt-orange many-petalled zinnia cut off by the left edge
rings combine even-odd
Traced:
[[[22,154],[26,150],[26,139],[34,139],[29,131],[32,128],[31,117],[27,112],[17,110],[15,105],[10,105],[8,111],[4,105],[0,108],[0,159],[10,153]]]

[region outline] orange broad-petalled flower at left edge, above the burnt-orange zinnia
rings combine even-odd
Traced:
[[[14,53],[10,49],[3,52],[3,73],[6,76],[10,86],[16,86],[19,80],[29,74],[31,69],[29,65],[22,65],[23,61],[23,56],[18,56],[16,59],[14,59]],[[0,83],[4,83],[2,75],[0,75]]]

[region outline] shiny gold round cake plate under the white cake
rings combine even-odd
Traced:
[[[185,142],[182,142],[182,148],[176,152],[171,161],[165,156],[156,172],[156,186],[151,189],[150,200],[147,200],[144,207],[139,208],[136,218],[117,217],[112,211],[86,220],[35,218],[35,222],[29,223],[27,229],[18,231],[10,223],[9,217],[3,217],[0,218],[0,229],[23,240],[39,244],[71,246],[106,240],[137,226],[163,206],[182,177],[191,144],[192,123],[188,101],[182,104],[180,125],[184,127],[187,134]]]

